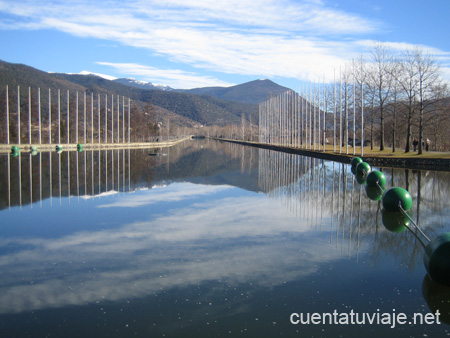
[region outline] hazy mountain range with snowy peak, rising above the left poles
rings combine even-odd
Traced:
[[[24,96],[26,88],[31,87],[44,91],[51,88],[121,95],[131,98],[141,109],[151,102],[157,119],[169,118],[179,126],[237,124],[242,115],[257,122],[258,103],[289,90],[270,80],[182,90],[131,78],[108,80],[95,74],[48,73],[0,61],[0,86],[7,85],[9,88],[20,86]]]

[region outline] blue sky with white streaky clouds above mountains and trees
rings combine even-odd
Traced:
[[[450,80],[448,0],[0,0],[0,60],[177,89],[332,81],[374,44]]]

